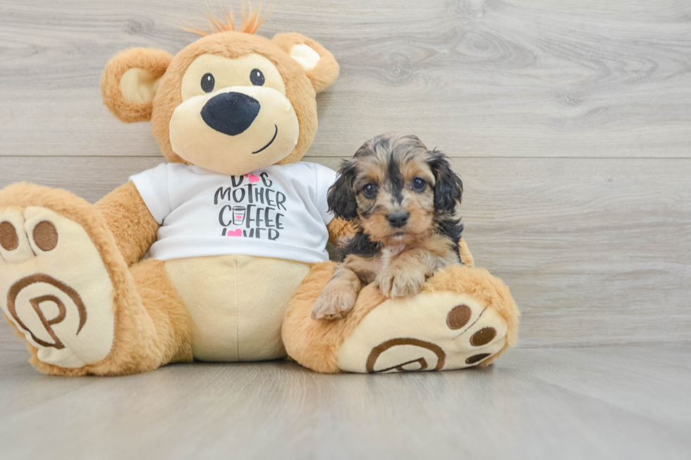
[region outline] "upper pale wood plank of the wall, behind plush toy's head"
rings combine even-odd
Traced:
[[[213,3],[213,2],[212,2]],[[228,6],[239,2],[226,1]],[[99,78],[121,49],[176,53],[202,1],[4,0],[0,155],[156,156]],[[454,156],[691,157],[691,4],[680,0],[309,0],[261,33],[322,42],[341,78],[311,156],[416,132]]]

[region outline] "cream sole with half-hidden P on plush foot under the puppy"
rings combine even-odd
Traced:
[[[499,313],[468,294],[389,299],[343,342],[338,368],[388,373],[477,366],[503,349],[507,330]]]

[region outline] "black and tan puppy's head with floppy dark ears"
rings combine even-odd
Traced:
[[[444,154],[413,135],[387,133],[343,162],[328,201],[337,217],[356,220],[373,241],[393,246],[434,231],[435,218],[453,215],[462,194]]]

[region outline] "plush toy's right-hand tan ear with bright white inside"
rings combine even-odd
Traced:
[[[300,63],[314,91],[324,91],[338,77],[336,58],[313,39],[297,33],[278,34],[274,36],[274,43]]]

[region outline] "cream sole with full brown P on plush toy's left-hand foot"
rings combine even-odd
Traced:
[[[63,368],[104,359],[113,345],[113,285],[78,223],[39,207],[0,209],[0,306]]]

